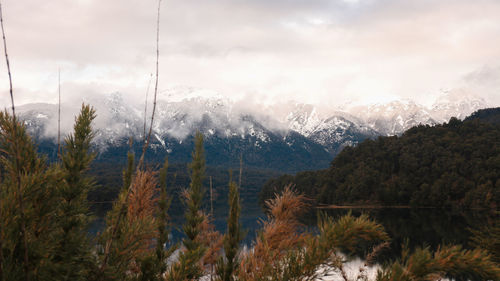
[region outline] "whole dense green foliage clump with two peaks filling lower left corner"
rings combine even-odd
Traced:
[[[84,280],[94,267],[86,227],[92,182],[84,176],[95,114],[82,106],[62,165],[47,166],[23,125],[0,114],[2,257],[7,280]],[[21,233],[21,235],[19,235]]]

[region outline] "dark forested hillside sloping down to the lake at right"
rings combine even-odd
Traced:
[[[322,204],[497,208],[500,108],[460,121],[417,126],[402,136],[346,147],[326,170],[270,180],[261,201],[293,183]]]

